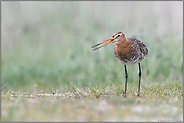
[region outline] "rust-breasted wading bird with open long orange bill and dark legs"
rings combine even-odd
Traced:
[[[140,83],[141,83],[141,65],[140,62],[145,59],[148,55],[148,49],[143,42],[136,38],[125,37],[123,32],[115,32],[112,38],[105,40],[92,46],[93,51],[104,47],[110,43],[115,43],[114,55],[116,59],[124,65],[125,68],[125,92],[124,97],[126,97],[127,91],[127,65],[138,64],[139,68],[139,84],[138,84],[138,96],[140,95]],[[98,47],[97,47],[98,46]]]

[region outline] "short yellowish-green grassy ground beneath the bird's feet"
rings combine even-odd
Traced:
[[[2,95],[3,121],[182,121],[183,91],[179,84],[151,85],[129,90],[121,87],[77,88],[72,91],[13,92]],[[20,112],[20,113],[16,113]],[[21,113],[22,112],[22,113]],[[39,114],[39,115],[38,115]]]

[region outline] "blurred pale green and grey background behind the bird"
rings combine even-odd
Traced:
[[[2,2],[1,91],[124,87],[115,44],[91,46],[116,31],[144,42],[141,86],[183,80],[182,2]],[[138,65],[128,66],[128,86],[138,84]],[[137,87],[137,86],[136,86]]]

